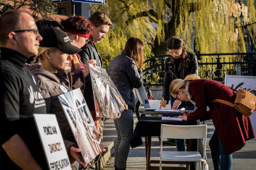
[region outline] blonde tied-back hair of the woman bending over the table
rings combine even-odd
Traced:
[[[196,74],[192,74],[192,75],[187,75],[184,80],[182,79],[175,79],[174,81],[172,81],[171,85],[170,85],[170,94],[177,94],[179,89],[184,89],[186,86],[186,81],[191,81],[191,80],[196,80],[196,79],[200,79],[200,77]]]

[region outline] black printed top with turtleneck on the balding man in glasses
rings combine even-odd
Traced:
[[[24,68],[27,57],[2,48],[0,57],[0,144],[18,134],[34,159],[48,169],[43,147],[33,118],[46,113],[45,101],[32,73]],[[20,169],[0,147],[1,169]]]

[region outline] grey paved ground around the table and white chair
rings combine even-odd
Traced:
[[[136,116],[135,116],[136,117]],[[135,122],[137,119],[134,119]],[[206,154],[207,154],[207,163],[209,165],[209,170],[213,170],[211,151],[209,148],[209,140],[214,132],[214,126],[211,120],[206,121],[207,124],[207,139],[206,139]],[[104,122],[103,129],[103,141],[111,142],[115,141],[117,133],[114,127],[113,119],[108,119]],[[128,159],[127,159],[127,170],[146,169],[146,157],[145,157],[145,139],[143,139],[143,145],[130,149]],[[175,146],[164,144],[164,147],[169,148],[170,150],[176,150]],[[157,137],[152,137],[151,142],[151,159],[159,160],[160,152],[160,143]],[[114,147],[111,148],[111,159],[109,159],[104,165],[103,169],[105,170],[114,170]],[[105,160],[106,161],[106,160]],[[249,140],[246,142],[245,146],[235,153],[233,153],[233,164],[232,170],[255,170],[256,168],[256,140]],[[199,166],[197,166],[199,169]]]

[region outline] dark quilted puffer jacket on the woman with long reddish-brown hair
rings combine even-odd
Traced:
[[[109,63],[108,75],[117,87],[128,109],[135,109],[135,92],[133,88],[142,86],[142,69],[138,69],[130,54],[123,50]]]

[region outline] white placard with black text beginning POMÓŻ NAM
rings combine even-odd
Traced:
[[[72,169],[55,114],[33,116],[49,169]]]

